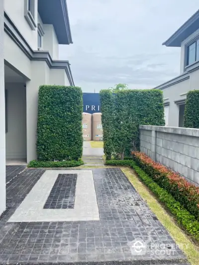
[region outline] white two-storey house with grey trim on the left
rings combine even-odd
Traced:
[[[74,85],[59,44],[72,44],[66,0],[0,1],[0,213],[5,156],[8,162],[36,159],[39,86]]]

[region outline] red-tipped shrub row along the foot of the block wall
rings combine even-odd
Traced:
[[[136,163],[199,220],[199,187],[188,182],[149,156],[133,152]]]

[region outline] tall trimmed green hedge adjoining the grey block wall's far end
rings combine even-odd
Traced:
[[[109,90],[101,90],[100,95],[103,139],[108,157],[111,153],[115,158],[123,159],[132,150],[139,150],[139,125],[165,125],[161,90],[121,90],[112,97]],[[107,138],[111,141],[106,142]],[[106,150],[104,153],[106,155]]]

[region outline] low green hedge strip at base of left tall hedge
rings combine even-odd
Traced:
[[[84,162],[79,159],[78,161],[71,160],[71,161],[37,161],[32,160],[28,164],[28,167],[78,167],[84,165]]]

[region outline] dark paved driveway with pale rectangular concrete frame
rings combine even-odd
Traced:
[[[186,264],[117,168],[26,169],[7,185],[7,207],[0,263]]]

